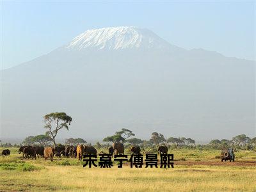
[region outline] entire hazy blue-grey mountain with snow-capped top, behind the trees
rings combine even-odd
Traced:
[[[252,136],[254,66],[176,47],[148,29],[88,30],[1,72],[0,136],[44,133],[42,116],[54,111],[74,119],[63,138],[103,138],[124,127],[145,139],[154,131],[231,138],[241,127]]]

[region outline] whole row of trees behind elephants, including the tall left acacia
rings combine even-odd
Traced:
[[[44,122],[46,129],[45,134],[40,134],[36,136],[28,136],[25,138],[20,145],[42,145],[44,147],[49,145],[57,146],[56,136],[61,129],[69,129],[69,125],[72,122],[71,116],[68,116],[64,112],[49,113],[44,116]],[[249,138],[245,134],[239,134],[232,138],[232,140],[212,140],[206,145],[196,145],[195,140],[191,138],[164,138],[163,134],[158,132],[152,132],[149,140],[141,140],[140,138],[135,138],[135,134],[129,129],[121,129],[116,131],[112,136],[107,136],[100,143],[99,141],[94,145],[97,148],[109,147],[111,143],[120,142],[124,143],[126,147],[131,147],[131,145],[138,145],[142,148],[156,149],[159,145],[166,145],[168,148],[196,148],[198,150],[202,149],[221,149],[221,148],[233,148],[241,150],[256,150],[256,137]],[[1,141],[0,141],[1,143]],[[68,138],[65,140],[66,145],[77,145],[87,143],[86,140],[82,138]],[[12,145],[11,143],[1,143],[1,147],[19,147],[20,145]],[[90,145],[90,143],[87,143]]]

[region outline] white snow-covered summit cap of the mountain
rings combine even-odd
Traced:
[[[150,49],[169,44],[148,29],[133,26],[90,29],[76,36],[67,49]]]

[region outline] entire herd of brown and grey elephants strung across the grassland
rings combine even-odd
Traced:
[[[21,146],[19,148],[19,154],[22,153],[23,159],[27,158],[34,158],[36,159],[36,156],[44,157],[45,161],[47,158],[49,158],[51,161],[53,161],[53,157],[72,157],[77,158],[79,161],[82,160],[83,155],[97,155],[96,148],[92,146],[86,146],[86,145],[58,145],[57,147],[38,147],[38,146]],[[132,146],[130,149],[131,155],[138,155],[141,154],[141,149],[138,146]],[[159,146],[157,148],[158,154],[167,154],[168,148],[165,145]],[[111,147],[108,148],[108,154],[113,156],[115,155],[124,155],[124,144],[123,143],[113,143]],[[5,149],[2,152],[2,156],[8,156],[10,155],[10,150]]]

